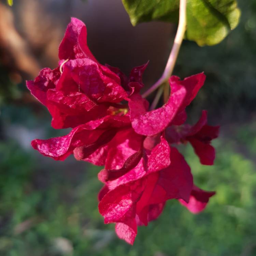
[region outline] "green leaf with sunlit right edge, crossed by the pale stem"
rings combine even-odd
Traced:
[[[178,22],[179,0],[122,0],[133,26],[161,20]],[[187,0],[186,38],[198,45],[221,42],[240,18],[236,0]]]

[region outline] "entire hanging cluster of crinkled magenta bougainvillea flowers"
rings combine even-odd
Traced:
[[[214,192],[193,183],[190,167],[175,145],[189,142],[203,165],[212,165],[211,140],[219,127],[207,124],[203,111],[198,122],[184,124],[186,107],[203,86],[205,75],[169,79],[171,94],[161,108],[149,111],[140,95],[147,66],[126,77],[119,69],[101,65],[86,43],[86,27],[72,18],[59,47],[59,66],[43,69],[28,81],[31,94],[52,115],[54,128],[72,128],[69,134],[32,146],[41,154],[104,166],[99,212],[105,223],[116,223],[116,233],[132,244],[138,225],[147,225],[162,212],[169,199],[189,211],[202,211]]]

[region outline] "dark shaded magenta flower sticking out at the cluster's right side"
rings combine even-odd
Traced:
[[[213,165],[215,149],[210,143],[218,134],[219,126],[207,124],[205,110],[194,126],[170,126],[166,129],[166,138],[170,143],[190,142],[202,165]]]

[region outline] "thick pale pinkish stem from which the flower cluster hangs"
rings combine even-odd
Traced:
[[[150,95],[155,89],[157,89],[162,83],[168,81],[169,77],[172,74],[177,56],[179,54],[179,50],[182,44],[182,40],[184,37],[184,33],[186,31],[186,0],[180,0],[180,17],[179,17],[179,25],[177,28],[177,32],[175,35],[174,43],[171,49],[170,56],[166,63],[165,70],[163,71],[160,79],[152,85],[143,95],[143,98],[146,98]]]

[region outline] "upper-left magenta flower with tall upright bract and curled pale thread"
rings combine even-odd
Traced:
[[[127,97],[118,75],[101,65],[86,42],[86,27],[72,18],[59,47],[60,66],[45,68],[27,87],[51,113],[54,128],[76,127],[106,115]]]

